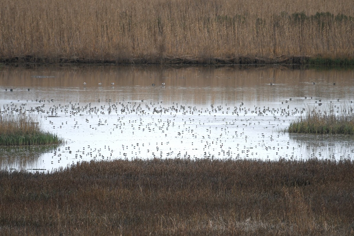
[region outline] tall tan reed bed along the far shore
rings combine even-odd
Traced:
[[[0,61],[354,64],[350,0],[0,2]]]

